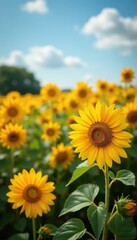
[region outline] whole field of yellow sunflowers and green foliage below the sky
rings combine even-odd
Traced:
[[[134,78],[0,96],[2,240],[137,239]]]

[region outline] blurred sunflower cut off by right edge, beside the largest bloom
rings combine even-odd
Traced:
[[[129,124],[129,127],[131,127],[131,128],[137,127],[137,104],[136,104],[136,101],[127,103],[123,107],[123,113],[126,114],[126,120]]]

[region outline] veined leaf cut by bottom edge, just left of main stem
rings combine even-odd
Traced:
[[[85,232],[84,223],[78,218],[72,218],[57,230],[53,240],[76,240],[81,238]]]

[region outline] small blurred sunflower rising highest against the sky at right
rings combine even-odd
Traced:
[[[132,82],[134,77],[135,77],[135,74],[132,68],[124,68],[121,71],[121,80],[124,83]]]

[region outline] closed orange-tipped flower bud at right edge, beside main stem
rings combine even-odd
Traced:
[[[121,198],[116,204],[119,214],[123,217],[131,217],[137,214],[137,203],[128,198]]]

